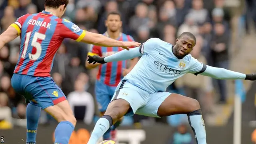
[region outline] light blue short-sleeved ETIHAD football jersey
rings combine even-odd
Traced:
[[[166,88],[186,73],[196,74],[203,68],[190,54],[178,59],[172,44],[159,38],[150,38],[140,46],[142,57],[123,80],[150,94],[165,92]]]

